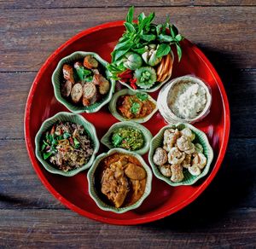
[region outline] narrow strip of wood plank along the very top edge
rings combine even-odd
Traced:
[[[140,7],[164,7],[164,6],[245,6],[255,5],[252,0],[143,0],[143,1],[32,1],[32,0],[21,0],[21,1],[3,1],[0,0],[0,9],[50,9],[50,8],[91,8],[91,7],[129,7],[129,6],[140,6]]]

